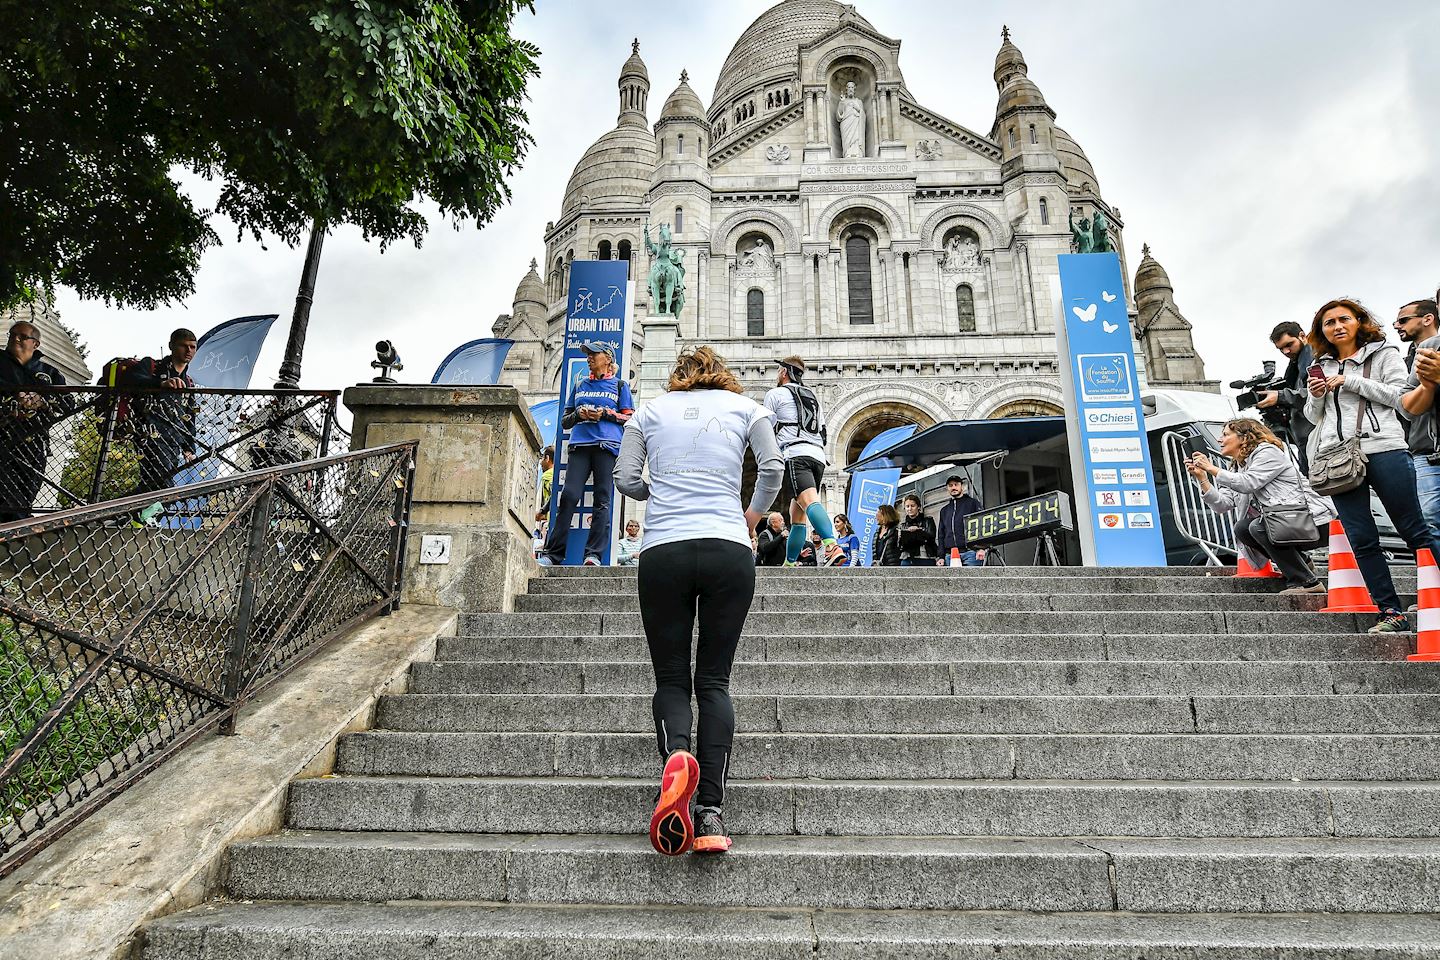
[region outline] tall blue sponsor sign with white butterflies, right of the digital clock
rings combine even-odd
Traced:
[[[1115,253],[1060,256],[1056,335],[1080,550],[1092,567],[1164,567],[1135,335]]]

